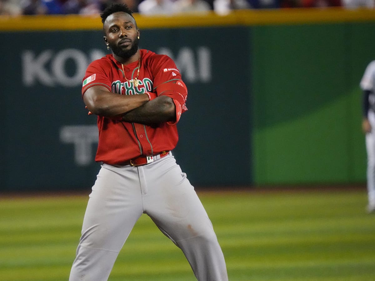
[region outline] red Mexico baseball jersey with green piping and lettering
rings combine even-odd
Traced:
[[[181,113],[187,110],[186,85],[171,58],[144,49],[140,53],[138,87],[134,87],[134,83],[129,81],[136,77],[139,62],[135,61],[122,68],[121,63],[110,54],[93,61],[87,67],[82,96],[94,85],[107,87],[111,92],[121,95],[144,94],[147,91],[156,93],[157,96],[169,96],[176,106],[176,121],[150,127],[98,116],[99,143],[95,161],[121,164],[140,155],[156,155],[172,150],[177,144],[176,123]]]

